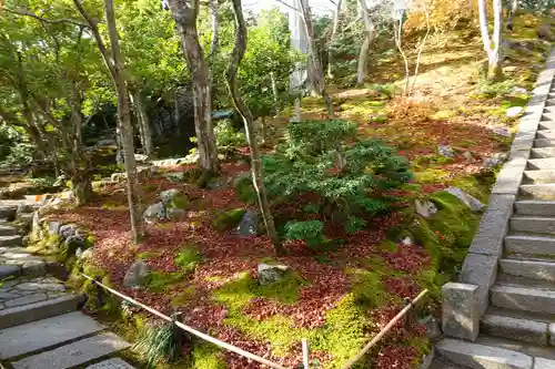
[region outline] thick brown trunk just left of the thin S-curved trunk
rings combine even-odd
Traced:
[[[199,2],[196,0],[190,2],[186,0],[169,0],[193,83],[194,127],[199,164],[205,172],[220,173],[214,129],[212,126],[210,75],[196,32]]]

